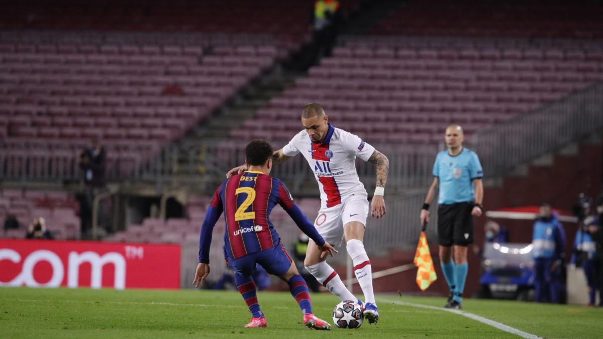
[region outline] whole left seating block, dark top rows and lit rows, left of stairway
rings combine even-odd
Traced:
[[[27,154],[37,153],[47,155],[43,161],[54,173],[43,177],[73,177],[74,161],[63,170],[54,158],[75,159],[90,139],[103,139],[109,177],[128,176],[307,42],[312,6],[0,4],[0,28],[7,29],[0,32],[0,116],[7,118],[0,119],[0,140],[4,160],[18,159],[2,171],[18,177]]]

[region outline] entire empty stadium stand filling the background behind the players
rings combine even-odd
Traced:
[[[242,146],[251,138],[268,139],[275,147],[288,141],[301,129],[299,111],[310,101],[322,104],[336,127],[357,133],[390,157],[388,217],[369,218],[374,232],[365,238],[374,271],[412,261],[417,229],[409,225],[417,221],[417,206],[425,199],[433,156],[448,124],[462,124],[467,147],[484,160],[486,209],[544,200],[569,209],[579,192],[598,194],[600,138],[576,146],[570,156],[567,151],[549,154],[554,160],[544,167],[529,162],[592,136],[596,126],[578,129],[578,123],[568,123],[566,133],[562,121],[600,106],[600,100],[592,100],[603,80],[600,4],[344,0],[344,11],[357,14],[347,22],[347,33],[338,37],[331,57],[300,75],[307,65],[296,63],[308,49],[313,3],[1,2],[0,220],[13,214],[21,227],[1,230],[0,236],[24,238],[32,219],[44,217],[58,239],[82,238],[78,204],[67,189],[75,189],[81,178],[77,158],[83,148],[101,139],[112,184],[103,199],[119,208],[96,228],[121,230],[103,241],[180,244],[182,287],[190,287],[209,189],[241,163]],[[358,12],[362,4],[369,10]],[[547,112],[555,113],[550,124],[545,119],[522,122],[522,117]],[[526,127],[517,127],[517,121]],[[528,153],[524,141],[548,136],[540,126],[569,139],[542,142],[543,148],[519,162],[507,158],[494,177],[487,159],[493,153]],[[517,128],[510,135],[497,131],[512,127]],[[538,130],[536,141],[526,138],[532,130]],[[485,131],[493,136],[489,145],[496,145],[488,151],[483,149]],[[481,144],[470,143],[475,135]],[[358,168],[371,192],[374,166],[359,162]],[[304,159],[274,170],[301,197],[297,203],[313,220],[320,201]],[[40,188],[12,189],[40,182]],[[54,191],[59,187],[65,191]],[[164,201],[174,192],[182,193],[177,201],[189,196],[183,215],[175,209],[167,214],[180,217],[144,217],[155,215],[148,212],[148,201]],[[160,215],[166,215],[166,206]],[[298,229],[288,215],[276,208],[271,221],[290,246]],[[483,221],[476,219],[476,230]],[[213,233],[212,278],[226,272],[223,227],[219,221]],[[428,236],[435,239],[435,227],[429,227]],[[482,236],[476,232],[476,244]],[[528,236],[520,240],[529,242]],[[343,261],[336,260],[344,258],[332,261],[340,273]],[[479,258],[470,261],[479,267]],[[379,278],[376,291],[415,291],[414,273]],[[468,294],[479,288],[478,270],[470,274]],[[444,279],[434,290],[446,290]]]

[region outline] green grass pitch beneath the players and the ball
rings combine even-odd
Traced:
[[[512,334],[440,310],[387,300],[442,306],[444,298],[379,296],[381,319],[360,329],[308,330],[288,293],[258,295],[266,329],[244,329],[250,313],[234,291],[69,290],[0,288],[0,338],[507,338]],[[314,313],[332,323],[338,302],[313,293]],[[603,309],[466,299],[464,311],[545,338],[603,335]]]

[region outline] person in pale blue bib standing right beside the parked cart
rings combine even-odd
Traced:
[[[535,271],[535,301],[558,303],[560,268],[565,250],[563,226],[549,204],[542,204],[534,223],[532,257]]]

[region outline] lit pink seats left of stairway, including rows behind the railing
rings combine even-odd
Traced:
[[[127,176],[279,57],[273,45],[232,52],[224,46],[215,55],[178,45],[4,44],[0,50],[0,160],[46,154],[50,169],[44,170],[57,176],[77,173],[76,157],[95,138],[110,148],[109,174]],[[69,154],[72,170],[57,168],[52,158]],[[23,170],[10,163],[2,170]]]

